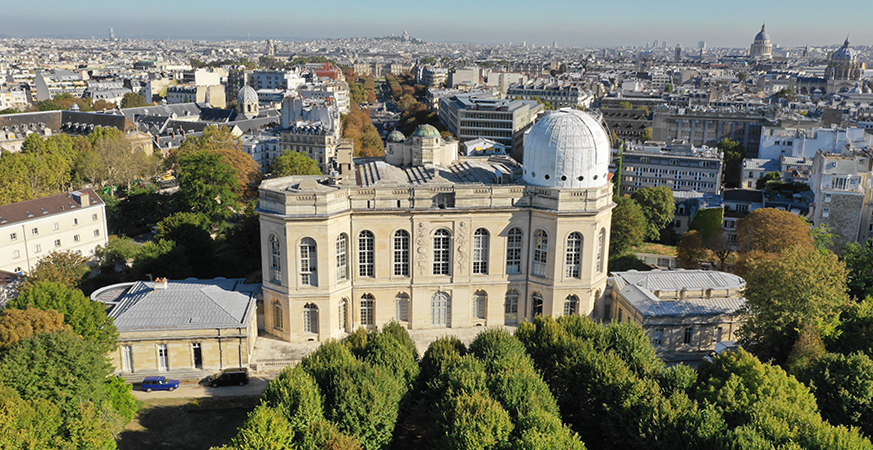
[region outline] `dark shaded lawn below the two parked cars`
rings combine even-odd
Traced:
[[[227,444],[259,399],[254,396],[147,400],[119,435],[118,448],[206,450]]]

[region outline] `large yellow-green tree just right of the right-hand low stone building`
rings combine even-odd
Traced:
[[[786,361],[804,322],[833,334],[849,305],[845,266],[834,254],[795,245],[775,257],[748,263],[739,330],[743,345],[765,360]]]

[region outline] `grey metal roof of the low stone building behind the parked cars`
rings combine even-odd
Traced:
[[[166,289],[137,281],[99,289],[91,298],[111,306],[119,332],[244,328],[259,291],[260,285],[243,279],[171,280]]]

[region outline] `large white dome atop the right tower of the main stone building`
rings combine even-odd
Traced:
[[[524,142],[524,181],[543,187],[599,188],[609,178],[612,149],[590,114],[565,108],[536,123]]]

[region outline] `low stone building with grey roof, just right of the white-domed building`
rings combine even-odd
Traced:
[[[606,321],[642,325],[658,355],[700,359],[715,344],[736,339],[738,311],[745,303],[742,278],[711,270],[615,272],[609,279]]]

